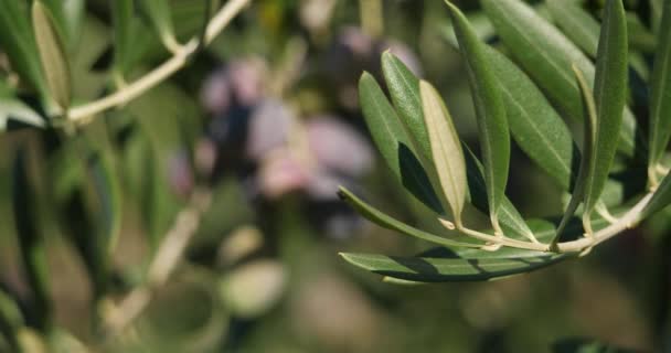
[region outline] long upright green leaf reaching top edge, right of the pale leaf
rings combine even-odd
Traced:
[[[450,9],[461,55],[466,61],[478,118],[490,217],[497,229],[499,226],[498,212],[505,194],[510,162],[510,135],[505,107],[491,64],[484,54],[484,44],[477,38],[461,11],[449,2],[447,4]]]

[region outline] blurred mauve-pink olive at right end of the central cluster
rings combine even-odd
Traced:
[[[320,167],[348,176],[361,176],[373,165],[373,150],[354,128],[336,117],[311,118],[307,124],[310,150]]]

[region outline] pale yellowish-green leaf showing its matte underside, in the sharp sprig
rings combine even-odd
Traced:
[[[427,82],[419,83],[424,119],[433,160],[443,186],[443,193],[452,211],[457,224],[461,224],[461,211],[466,200],[466,162],[459,136],[452,119],[436,88]]]

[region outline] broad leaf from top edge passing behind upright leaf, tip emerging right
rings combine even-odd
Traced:
[[[572,66],[575,64],[585,73],[592,86],[595,67],[589,58],[558,29],[521,0],[482,0],[482,6],[515,62],[562,114],[582,121],[584,110],[581,92]],[[625,109],[624,119],[618,149],[631,157],[636,148],[637,122],[629,109]]]

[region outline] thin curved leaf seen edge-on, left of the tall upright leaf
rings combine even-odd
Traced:
[[[573,217],[573,214],[577,210],[581,202],[585,201],[586,183],[589,176],[589,172],[594,169],[594,165],[596,164],[596,161],[594,160],[594,143],[596,140],[597,130],[596,103],[594,101],[594,97],[583,73],[581,73],[579,68],[575,66],[573,69],[575,72],[578,86],[581,87],[581,92],[583,93],[583,106],[587,110],[585,113],[587,119],[585,119],[583,128],[583,158],[581,159],[578,178],[576,180],[575,188],[573,189],[573,194],[571,195],[568,206],[564,211],[564,216],[562,217],[562,222],[560,222],[560,226],[557,227],[557,234],[552,242],[553,245],[561,240],[562,233],[568,224],[568,221]]]

